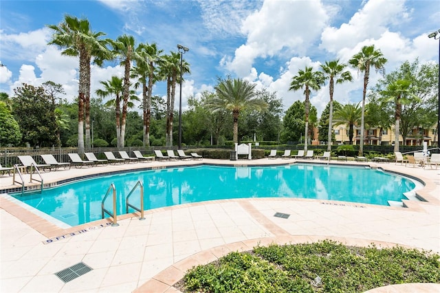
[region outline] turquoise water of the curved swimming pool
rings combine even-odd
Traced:
[[[125,213],[125,197],[137,181],[144,184],[145,210],[243,197],[294,197],[388,205],[388,200],[400,201],[405,198],[403,193],[415,188],[415,183],[408,178],[356,166],[190,166],[96,177],[47,188],[43,193],[12,196],[76,226],[101,219],[101,201],[112,183],[118,195],[118,215]],[[131,195],[130,203],[140,205],[139,189]],[[111,204],[109,196],[105,208],[113,210]]]

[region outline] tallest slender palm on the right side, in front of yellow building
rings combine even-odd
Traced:
[[[366,87],[369,84],[370,78],[370,67],[375,67],[376,72],[381,72],[382,75],[385,74],[385,63],[386,58],[380,50],[375,50],[374,45],[364,46],[359,53],[351,57],[349,63],[354,68],[358,69],[359,72],[364,72],[364,91],[362,94],[362,116],[360,122],[360,149],[359,154],[364,153],[364,115],[365,115],[365,97],[366,97]]]

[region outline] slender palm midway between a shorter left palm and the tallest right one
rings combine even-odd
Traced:
[[[344,71],[347,65],[339,63],[339,59],[335,61],[325,61],[325,65],[321,65],[322,72],[324,72],[324,78],[329,79],[329,92],[330,92],[330,109],[329,109],[329,135],[327,140],[327,151],[331,151],[331,133],[333,130],[333,90],[334,79],[336,83],[344,83],[345,81],[353,80],[351,73],[347,70]]]

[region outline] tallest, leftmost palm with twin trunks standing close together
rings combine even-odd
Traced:
[[[47,25],[54,30],[49,45],[58,45],[65,48],[61,53],[67,56],[79,56],[79,90],[78,90],[78,151],[83,152],[84,144],[84,116],[86,129],[86,145],[90,147],[90,63],[102,65],[109,57],[107,41],[101,40],[103,32],[92,32],[87,19],[77,19],[65,16],[59,25]]]

